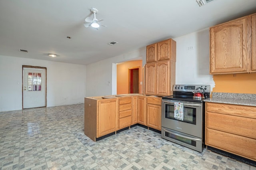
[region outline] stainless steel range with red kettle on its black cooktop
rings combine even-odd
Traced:
[[[204,148],[204,99],[210,85],[174,85],[173,95],[162,98],[164,139],[202,152]]]

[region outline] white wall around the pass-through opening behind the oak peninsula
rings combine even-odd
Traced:
[[[135,59],[142,59],[142,63],[146,61],[146,47],[86,65],[86,96],[116,94],[116,91],[112,90],[112,81],[116,82],[116,73],[112,73],[112,70],[116,71],[112,69],[113,63]],[[113,88],[114,86],[116,84]]]

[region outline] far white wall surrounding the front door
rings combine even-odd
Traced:
[[[47,68],[47,107],[84,103],[85,65],[0,55],[0,111],[22,109],[22,65]]]

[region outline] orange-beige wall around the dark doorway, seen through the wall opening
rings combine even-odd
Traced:
[[[142,81],[142,60],[126,61],[116,65],[117,94],[129,93],[129,69],[140,67],[140,81]],[[142,85],[140,85],[142,93]]]

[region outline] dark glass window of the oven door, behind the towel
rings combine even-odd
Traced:
[[[173,119],[176,121],[181,121],[174,118],[174,105],[165,105],[165,118]],[[185,107],[183,108],[183,121],[196,125],[196,108],[193,107]]]

